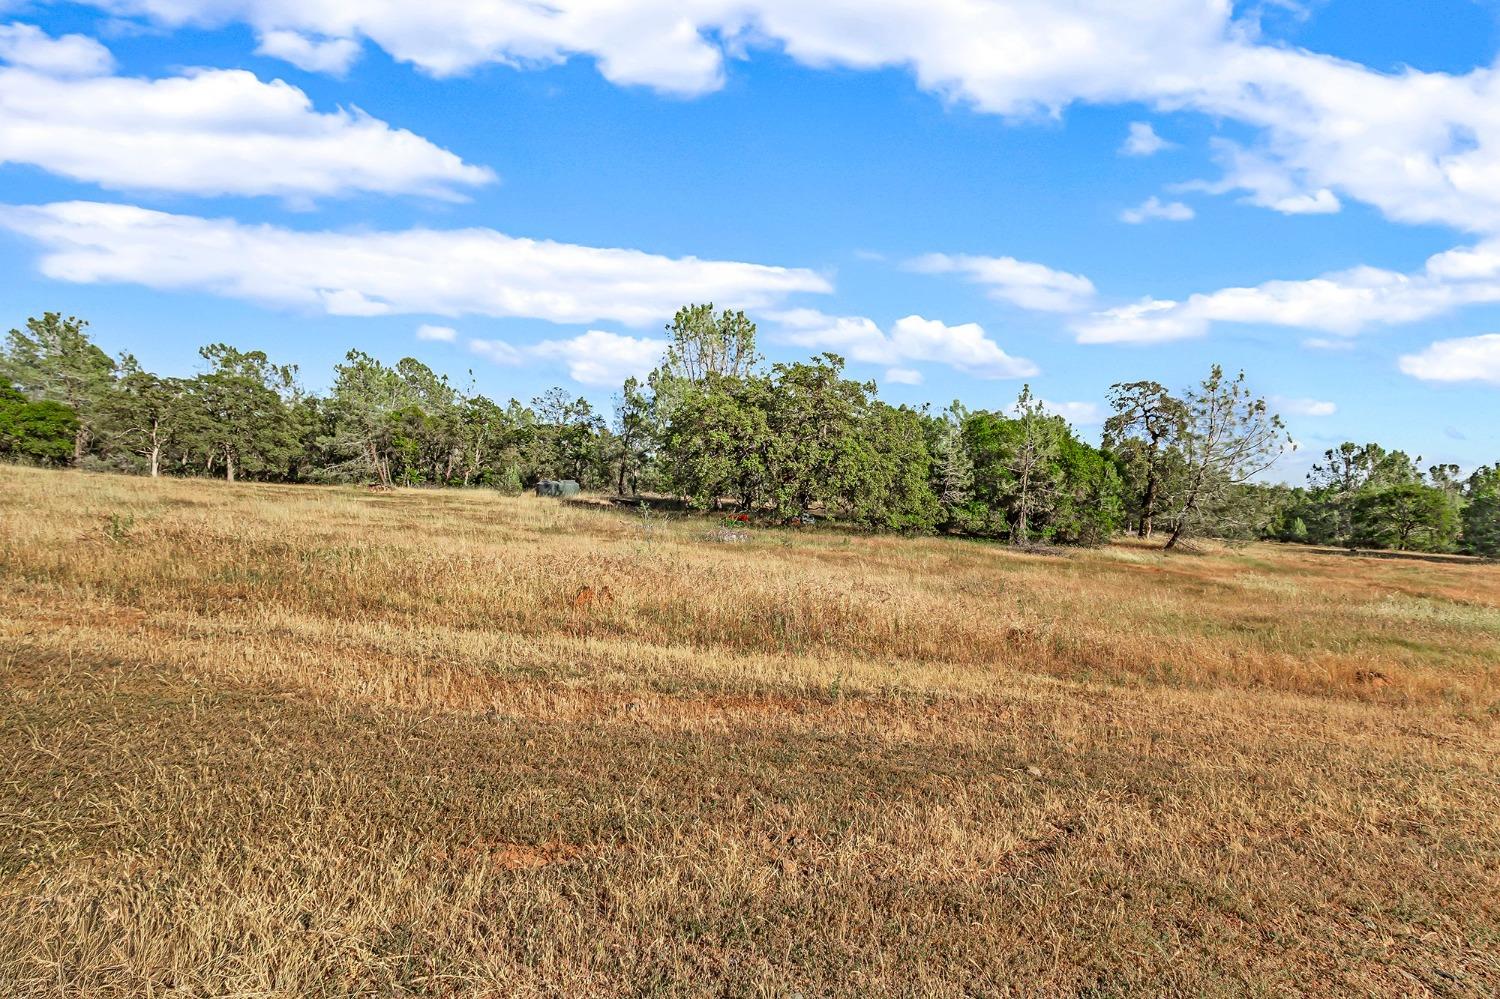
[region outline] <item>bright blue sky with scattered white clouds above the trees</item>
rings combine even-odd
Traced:
[[[1473,466],[1497,45],[1476,0],[0,0],[0,324],[608,405],[714,298],[892,402],[1029,381],[1094,435],[1112,382],[1218,362],[1287,478]]]

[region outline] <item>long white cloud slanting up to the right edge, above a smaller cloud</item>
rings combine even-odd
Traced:
[[[1314,330],[1350,338],[1370,326],[1430,320],[1468,304],[1500,302],[1500,240],[1446,250],[1413,273],[1353,267],[1308,280],[1268,280],[1184,302],[1146,298],[1074,324],[1084,344],[1154,344],[1203,336],[1214,322]],[[1308,346],[1334,346],[1314,338]]]

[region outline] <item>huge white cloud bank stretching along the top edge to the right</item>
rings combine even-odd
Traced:
[[[1224,183],[1256,204],[1330,212],[1353,198],[1402,222],[1500,232],[1500,74],[1383,74],[1263,42],[1252,8],[1228,0],[93,3],[165,24],[366,39],[435,75],[584,56],[616,84],[702,94],[723,84],[726,57],[766,48],[807,66],[903,69],[982,112],[1138,102],[1248,126]]]

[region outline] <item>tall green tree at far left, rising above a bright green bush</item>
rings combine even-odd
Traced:
[[[33,402],[60,402],[74,411],[72,462],[82,460],[114,381],[114,362],[88,338],[88,322],[44,312],[10,330],[0,356],[0,378]]]

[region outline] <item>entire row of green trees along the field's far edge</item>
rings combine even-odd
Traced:
[[[1329,450],[1306,486],[1258,482],[1292,446],[1245,375],[1186,392],[1110,388],[1101,446],[1029,387],[1014,404],[892,406],[820,354],[766,364],[742,312],[681,309],[662,364],[612,412],[552,388],[501,405],[422,362],[350,351],[326,394],[262,351],[213,344],[192,378],[110,357],[88,324],[48,312],[0,352],[0,456],[230,482],[369,482],[519,492],[546,478],[668,495],[789,522],[1096,544],[1128,531],[1500,554],[1500,465],[1377,444]]]

